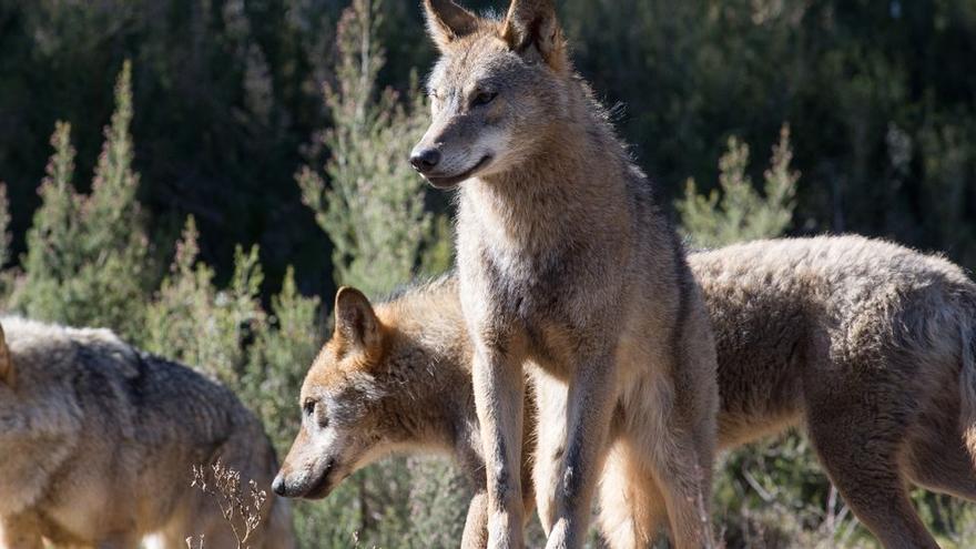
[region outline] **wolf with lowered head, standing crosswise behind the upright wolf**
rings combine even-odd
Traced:
[[[805,426],[885,547],[937,547],[905,486],[976,501],[976,285],[945,260],[854,236],[755,242],[689,262],[718,342],[720,448]],[[336,334],[308,372],[302,431],[276,488],[323,497],[390,451],[448,453],[476,486],[484,479],[457,292],[444,278],[375,309],[340,293]],[[523,477],[529,468],[523,458]],[[606,469],[602,489],[629,486],[628,475]],[[466,549],[487,542],[484,490]],[[634,505],[637,515],[601,505],[610,547],[653,539],[660,501]]]

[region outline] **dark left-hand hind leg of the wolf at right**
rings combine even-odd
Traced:
[[[937,549],[912,507],[898,468],[904,426],[877,419],[897,415],[878,410],[881,403],[865,403],[867,409],[844,404],[814,405],[809,415],[811,439],[834,486],[885,548]]]

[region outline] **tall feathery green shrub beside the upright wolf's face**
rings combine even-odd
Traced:
[[[368,295],[409,281],[438,236],[424,211],[426,184],[407,162],[427,123],[424,96],[416,79],[406,98],[376,90],[385,62],[380,8],[354,0],[343,13],[337,83],[325,88],[333,119],[323,143],[328,183],[307,166],[297,175],[304,202],[335,246],[334,278]]]

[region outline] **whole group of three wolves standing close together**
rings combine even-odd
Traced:
[[[456,268],[335,327],[278,465],[260,420],[105,329],[0,317],[0,548],[238,547],[191,469],[273,492],[247,547],[291,548],[286,498],[390,454],[472,488],[465,549],[720,547],[719,453],[799,427],[886,548],[936,548],[912,486],[976,500],[976,284],[861,236],[685,252],[573,71],[553,0],[424,0],[440,59],[409,162],[457,196]],[[406,162],[407,159],[404,159]],[[596,508],[596,516],[593,509]]]

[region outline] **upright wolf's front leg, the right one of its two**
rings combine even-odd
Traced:
[[[576,366],[567,398],[565,451],[552,454],[561,458],[561,467],[557,469],[556,522],[549,532],[548,549],[582,547],[586,540],[616,403],[617,363],[609,349],[583,357]],[[547,418],[540,415],[539,425],[545,428],[546,424]]]

